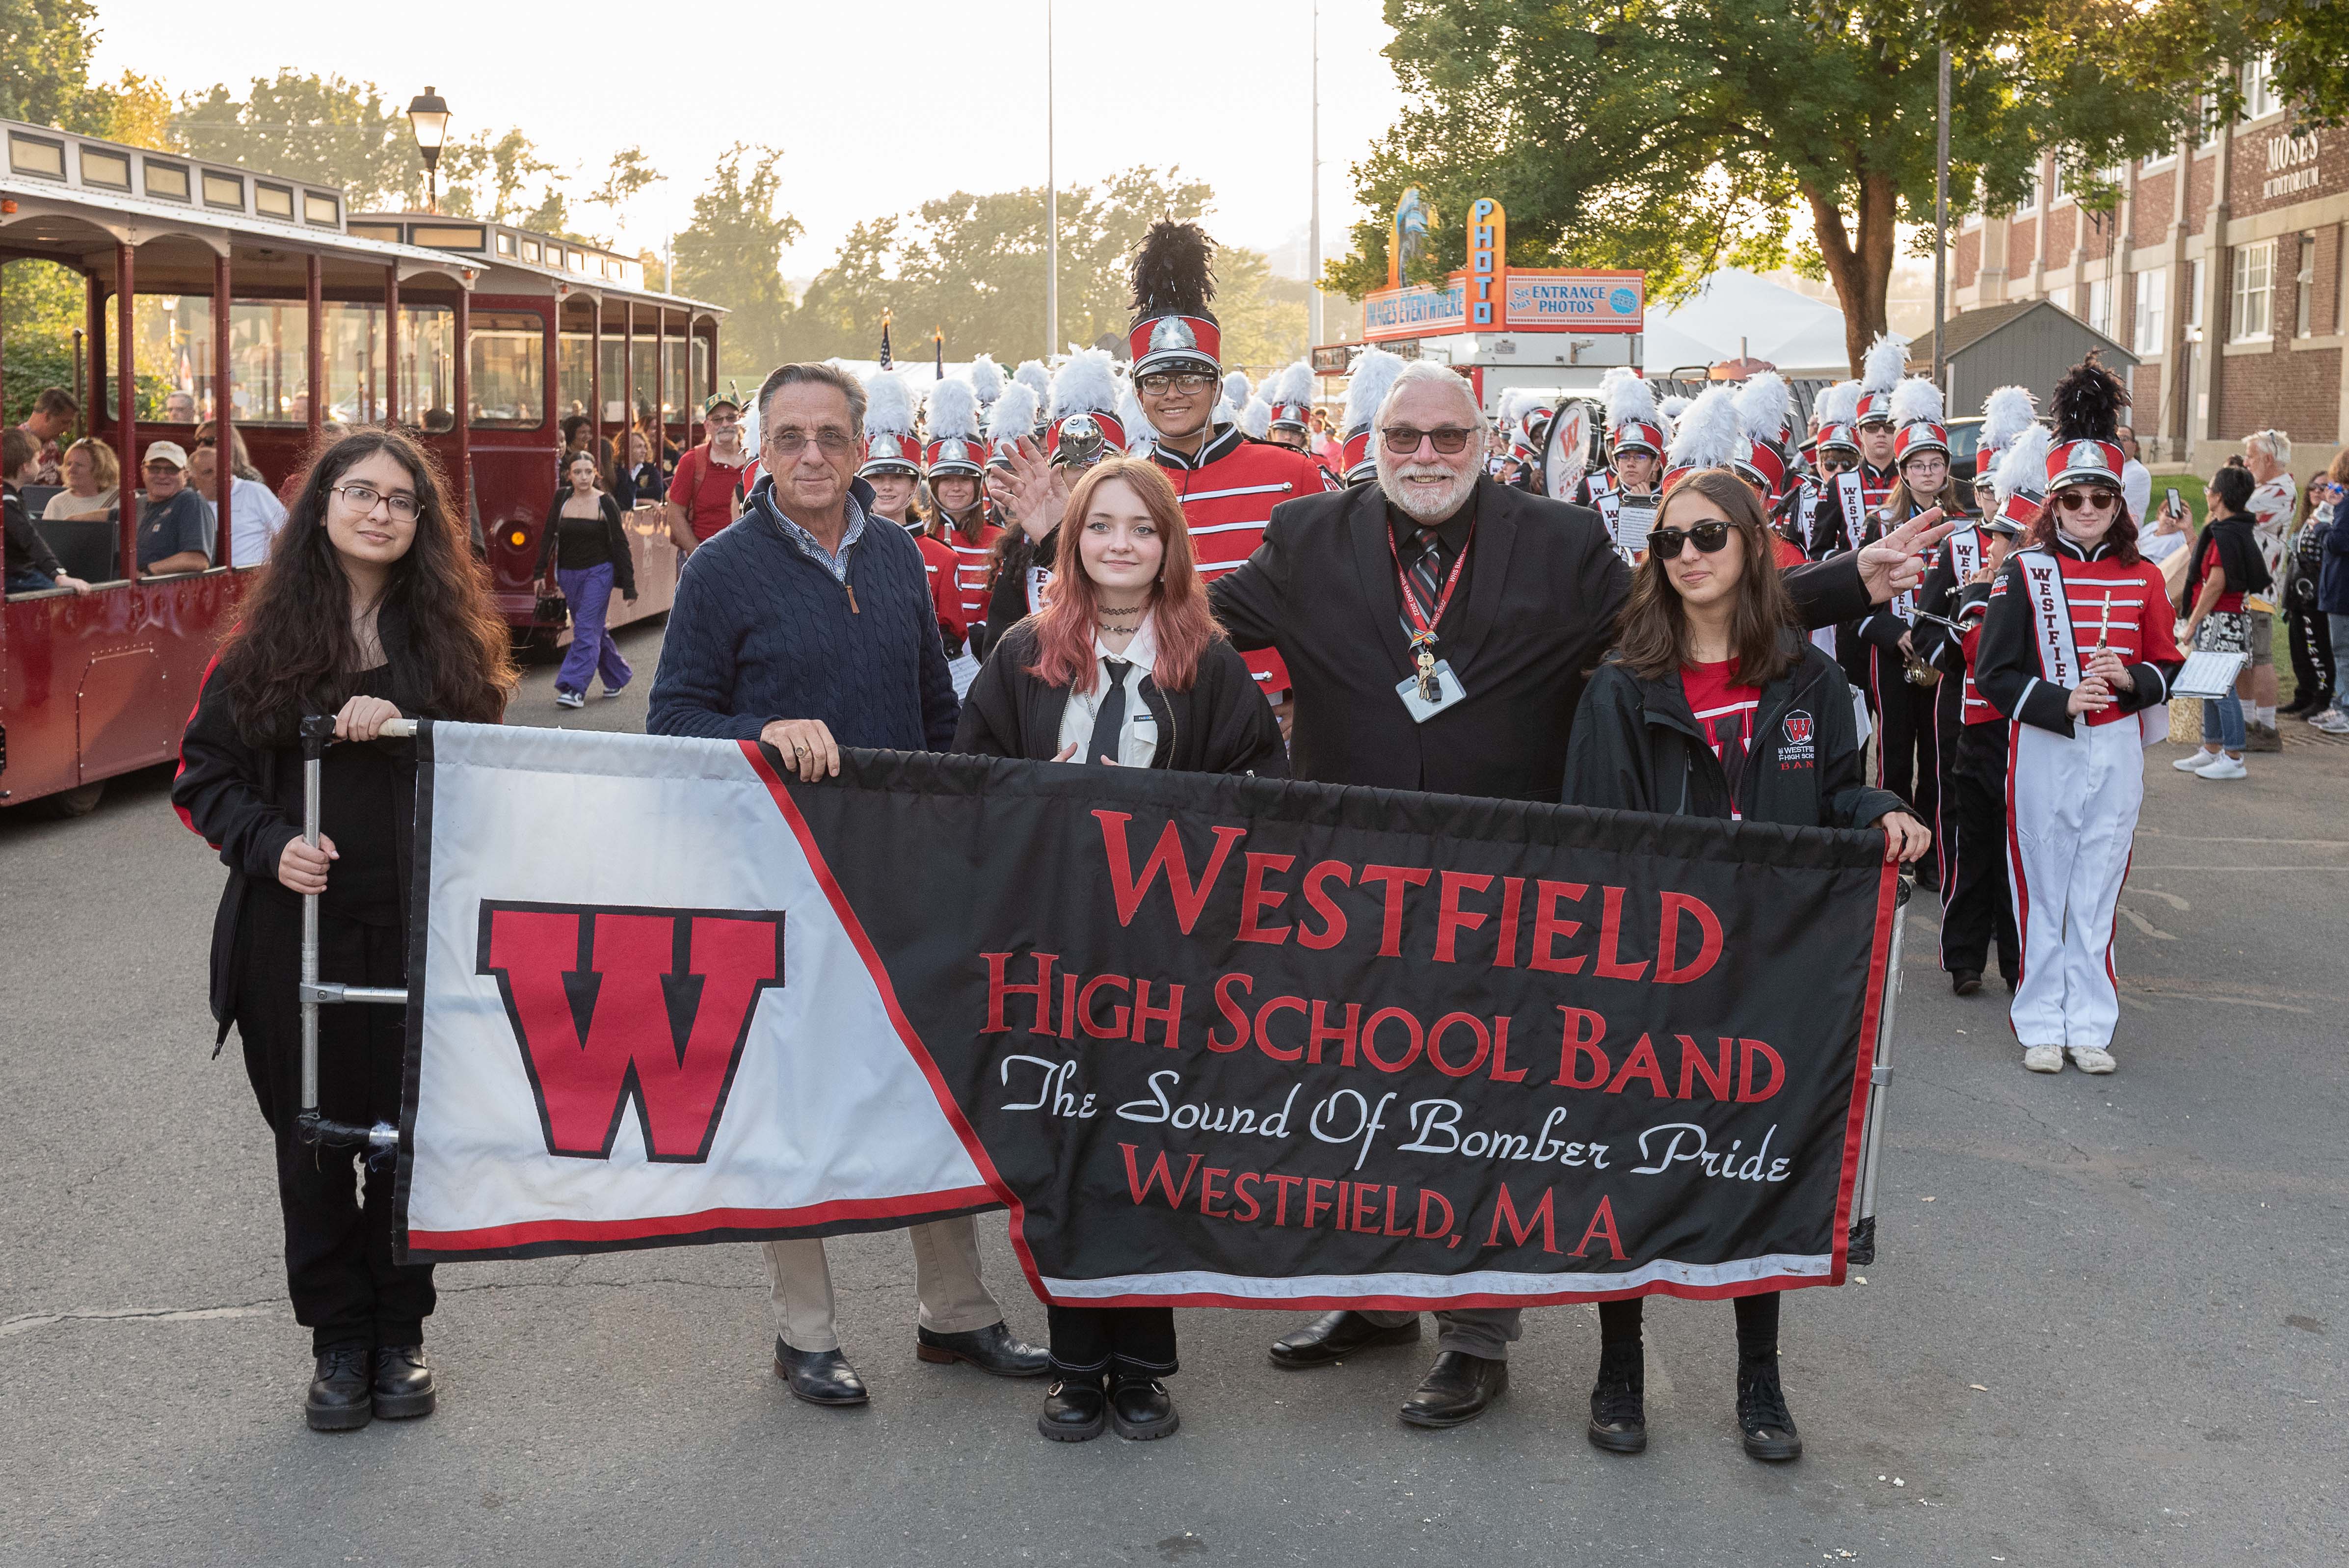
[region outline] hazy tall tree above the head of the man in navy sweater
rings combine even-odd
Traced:
[[[778,211],[782,153],[738,141],[719,157],[709,188],[693,197],[693,223],[677,232],[677,293],[733,312],[719,336],[719,373],[766,376],[785,361],[792,291],[782,282],[782,246],[799,239],[799,218]]]

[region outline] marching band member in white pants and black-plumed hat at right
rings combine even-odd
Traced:
[[[2145,798],[2145,725],[2182,664],[2161,568],[2138,556],[2114,439],[2128,392],[2095,361],[2055,385],[2048,509],[1990,592],[1976,681],[2013,721],[2008,871],[2022,1066],[2112,1073],[2112,920]],[[2093,641],[2091,641],[2093,638]],[[2166,730],[2163,730],[2166,732]]]

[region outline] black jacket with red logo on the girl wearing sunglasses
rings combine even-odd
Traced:
[[[1851,683],[1820,648],[1788,634],[1802,660],[1762,688],[1755,744],[1738,784],[1745,822],[1790,829],[1860,829],[1905,812],[1900,796],[1870,789]],[[1729,817],[1722,770],[1680,676],[1647,681],[1609,657],[1590,676],[1567,751],[1567,805],[1665,817]]]

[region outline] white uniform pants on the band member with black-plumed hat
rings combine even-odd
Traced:
[[[2069,739],[2013,725],[2006,869],[2022,979],[2008,1016],[2022,1045],[2112,1047],[2121,1019],[2112,918],[2142,800],[2135,723],[2081,723]]]

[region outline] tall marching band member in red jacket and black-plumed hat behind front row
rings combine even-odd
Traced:
[[[1330,488],[1320,462],[1306,453],[1250,441],[1212,418],[1214,378],[1221,373],[1221,329],[1207,310],[1214,298],[1212,258],[1214,242],[1196,223],[1153,223],[1135,254],[1135,322],[1125,333],[1135,394],[1158,432],[1151,460],[1167,469],[1182,495],[1207,582],[1254,554],[1273,507]],[[1247,667],[1268,702],[1287,702],[1290,671],[1278,653],[1252,653]]]

